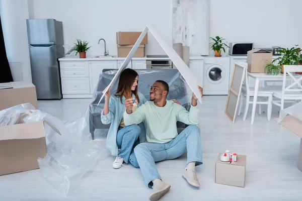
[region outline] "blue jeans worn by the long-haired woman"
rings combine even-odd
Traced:
[[[136,124],[126,126],[117,131],[116,144],[120,149],[118,157],[124,159],[125,163],[128,163],[129,156],[133,151],[133,145],[137,144],[137,139],[140,134],[140,127]]]

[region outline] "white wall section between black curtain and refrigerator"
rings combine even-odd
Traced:
[[[0,15],[14,81],[31,82],[26,28],[28,3],[24,0],[0,0]]]

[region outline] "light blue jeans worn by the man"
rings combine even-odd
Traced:
[[[152,180],[161,179],[155,162],[178,158],[185,151],[187,164],[194,161],[195,166],[202,164],[200,129],[195,125],[188,126],[176,138],[165,144],[138,144],[134,148],[136,158],[131,153],[129,161],[134,167],[140,167],[145,183],[152,187]]]

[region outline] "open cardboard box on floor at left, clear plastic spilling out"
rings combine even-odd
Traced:
[[[22,114],[15,125],[0,126],[0,175],[39,168],[37,159],[47,153],[44,122],[60,134],[46,120],[23,123],[27,115]]]

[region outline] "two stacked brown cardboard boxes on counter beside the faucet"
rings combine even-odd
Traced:
[[[116,32],[117,56],[127,57],[141,32]],[[142,39],[133,57],[145,56],[145,44],[148,44],[148,33]]]

